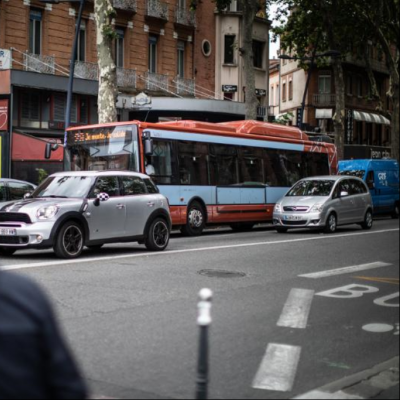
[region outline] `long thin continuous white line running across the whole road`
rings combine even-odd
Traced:
[[[382,230],[382,231],[351,233],[351,234],[345,234],[345,235],[335,235],[335,236],[328,235],[328,236],[317,236],[317,237],[304,238],[304,239],[277,240],[277,241],[260,242],[260,243],[243,243],[243,244],[235,244],[235,245],[229,245],[229,246],[205,247],[205,248],[198,248],[198,249],[171,250],[171,251],[155,252],[155,253],[125,254],[123,256],[78,258],[75,260],[50,261],[50,262],[33,263],[33,264],[5,265],[5,266],[0,266],[0,270],[9,271],[9,270],[16,270],[16,269],[24,269],[24,268],[40,268],[40,267],[51,267],[51,266],[56,266],[56,265],[71,265],[71,264],[83,264],[83,263],[90,263],[90,262],[114,261],[114,260],[122,260],[122,259],[126,259],[126,258],[159,257],[162,255],[168,256],[168,255],[174,255],[174,254],[195,253],[195,252],[202,252],[202,251],[216,251],[216,250],[238,249],[238,248],[244,248],[244,247],[260,247],[260,246],[270,246],[270,245],[276,246],[278,244],[302,243],[302,242],[312,242],[312,241],[320,241],[320,240],[336,240],[336,239],[342,239],[342,238],[348,238],[348,237],[399,232],[399,230],[400,229],[388,229],[388,230]]]

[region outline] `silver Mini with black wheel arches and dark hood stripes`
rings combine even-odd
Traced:
[[[168,246],[167,199],[151,179],[130,172],[69,172],[47,178],[28,199],[0,209],[0,253],[53,248],[76,258],[84,246],[139,242],[149,250]]]

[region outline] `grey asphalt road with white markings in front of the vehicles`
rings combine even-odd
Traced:
[[[332,236],[174,235],[163,254],[110,245],[67,264],[25,251],[0,266],[48,291],[95,397],[194,397],[204,287],[214,292],[210,398],[293,398],[399,355],[391,219]]]

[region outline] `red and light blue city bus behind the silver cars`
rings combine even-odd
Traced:
[[[337,163],[333,144],[256,121],[71,128],[65,153],[66,170],[147,172],[168,198],[174,226],[191,236],[209,224],[246,230],[271,221],[275,203],[294,183],[336,174]]]

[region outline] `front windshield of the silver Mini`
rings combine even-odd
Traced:
[[[52,176],[47,178],[32,194],[34,199],[83,199],[88,196],[95,178],[88,176]]]

